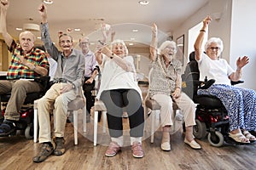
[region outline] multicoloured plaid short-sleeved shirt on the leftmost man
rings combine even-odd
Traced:
[[[38,48],[32,48],[29,54],[24,54],[19,43],[12,42],[9,47],[9,52],[12,54],[12,60],[9,65],[7,79],[19,79],[19,78],[38,78],[40,75],[36,71],[30,70],[27,66],[22,65],[20,59],[16,57],[16,54],[23,55],[28,62],[39,65],[49,70],[49,63],[43,50]]]

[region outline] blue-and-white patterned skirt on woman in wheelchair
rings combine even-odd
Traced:
[[[230,131],[237,128],[256,129],[256,93],[252,89],[225,84],[213,84],[199,89],[197,94],[207,94],[220,99],[230,116]]]

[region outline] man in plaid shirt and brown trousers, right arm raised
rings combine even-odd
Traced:
[[[5,111],[4,121],[0,126],[0,137],[15,132],[15,122],[20,119],[20,108],[26,94],[40,92],[43,87],[40,83],[23,79],[34,79],[48,75],[49,63],[44,51],[34,48],[35,36],[31,31],[20,33],[20,43],[15,42],[6,29],[6,15],[9,1],[1,0],[0,32],[12,54],[7,73],[7,80],[0,81],[0,94],[11,92]],[[22,78],[22,80],[21,80]]]

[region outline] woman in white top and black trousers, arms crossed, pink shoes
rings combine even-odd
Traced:
[[[124,41],[114,40],[110,48],[106,45],[97,47],[96,60],[104,68],[96,99],[106,105],[112,140],[105,155],[115,156],[124,143],[122,115],[125,108],[129,116],[132,155],[143,157],[143,98],[137,85],[133,58],[128,55]]]

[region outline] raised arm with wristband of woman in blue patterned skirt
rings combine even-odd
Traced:
[[[195,40],[195,44],[194,44],[194,48],[195,48],[195,59],[196,60],[200,60],[201,59],[201,54],[202,54],[202,42],[204,40],[207,28],[211,22],[211,17],[207,16],[204,20],[203,20],[203,26],[199,32],[198,37]]]

